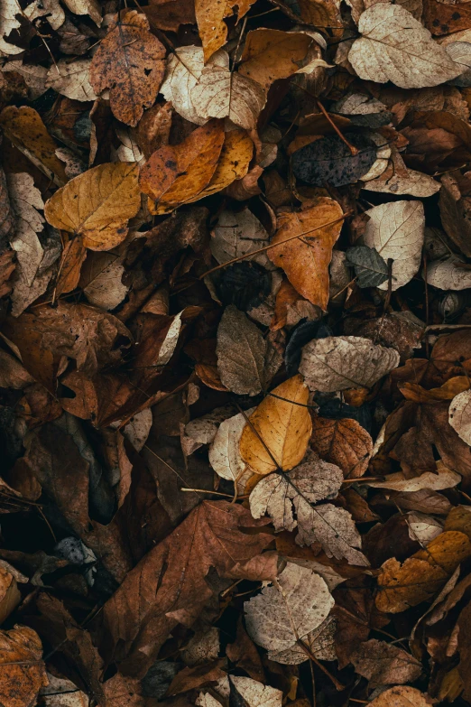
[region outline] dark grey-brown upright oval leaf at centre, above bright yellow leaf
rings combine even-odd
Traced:
[[[282,365],[262,331],[233,304],[217,328],[216,353],[221,382],[237,395],[261,393]]]

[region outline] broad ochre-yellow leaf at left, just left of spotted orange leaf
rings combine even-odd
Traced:
[[[47,201],[51,226],[83,236],[91,250],[109,250],[126,237],[141,206],[136,163],[105,163],[79,174]]]

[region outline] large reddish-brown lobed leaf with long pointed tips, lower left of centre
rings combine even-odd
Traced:
[[[104,609],[123,674],[145,674],[171,630],[198,618],[212,596],[211,567],[224,576],[271,542],[271,535],[243,532],[260,525],[241,506],[203,501],[129,572]]]

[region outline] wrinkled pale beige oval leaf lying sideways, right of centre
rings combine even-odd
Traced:
[[[325,393],[352,387],[372,387],[399,366],[394,349],[374,346],[357,336],[337,336],[309,341],[302,349],[300,373],[310,390]]]

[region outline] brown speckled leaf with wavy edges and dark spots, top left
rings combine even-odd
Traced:
[[[90,83],[97,94],[109,88],[113,114],[136,126],[161,87],[165,49],[149,32],[145,14],[126,10],[113,21],[93,56]]]

